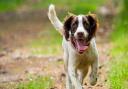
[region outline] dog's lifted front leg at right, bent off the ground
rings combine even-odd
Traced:
[[[97,82],[98,58],[91,64],[90,84],[95,85]]]

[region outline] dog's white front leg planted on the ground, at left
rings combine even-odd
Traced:
[[[83,89],[80,80],[78,79],[76,68],[73,65],[69,65],[69,76],[75,89]]]

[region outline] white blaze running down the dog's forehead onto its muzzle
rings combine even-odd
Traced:
[[[84,36],[87,37],[88,33],[83,25],[83,15],[78,15],[77,17],[78,17],[78,27],[77,27],[77,30],[76,30],[74,36],[77,38],[77,33],[83,32]]]

